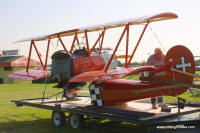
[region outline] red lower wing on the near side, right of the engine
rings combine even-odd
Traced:
[[[86,81],[118,79],[144,71],[155,71],[155,70],[157,70],[157,68],[153,66],[141,66],[141,67],[113,69],[108,72],[91,71],[79,74],[73,77],[69,82],[86,82]]]

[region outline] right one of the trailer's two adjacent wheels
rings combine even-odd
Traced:
[[[78,114],[70,114],[69,124],[74,129],[83,127],[83,116]]]

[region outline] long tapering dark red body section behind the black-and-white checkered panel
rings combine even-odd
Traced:
[[[187,87],[155,84],[147,81],[113,79],[105,81],[100,90],[104,105],[109,105],[157,96],[177,96],[184,93]]]

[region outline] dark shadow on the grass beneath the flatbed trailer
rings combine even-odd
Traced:
[[[64,127],[55,127],[50,119],[0,123],[0,133],[143,133],[146,130],[131,123],[94,119],[86,120],[79,129],[72,129],[68,121]]]

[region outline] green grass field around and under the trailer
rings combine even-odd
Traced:
[[[132,79],[137,79],[132,78]],[[47,95],[62,91],[47,87]],[[140,128],[134,124],[115,122],[109,120],[87,120],[82,129],[71,129],[69,124],[62,128],[54,127],[51,123],[52,111],[34,107],[16,107],[11,100],[42,97],[44,84],[2,84],[0,85],[0,133],[124,133],[145,132],[147,128]],[[190,101],[199,102],[200,94],[184,93],[180,97]],[[164,100],[176,100],[177,98],[164,97]]]

